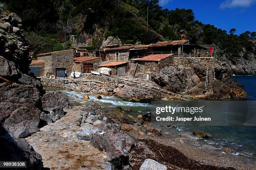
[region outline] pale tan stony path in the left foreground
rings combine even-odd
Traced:
[[[82,111],[75,108],[65,111],[68,112],[65,117],[42,127],[26,140],[42,155],[44,167],[51,170],[99,169],[105,165],[107,155],[90,145],[90,141],[78,140],[76,136],[80,130],[76,120]]]

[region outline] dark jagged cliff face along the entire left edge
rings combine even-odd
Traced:
[[[4,11],[0,17],[0,160],[26,161],[26,169],[41,170],[41,155],[20,138],[39,131],[43,86],[28,75],[31,58],[21,19]]]

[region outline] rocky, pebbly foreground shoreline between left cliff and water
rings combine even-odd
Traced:
[[[216,150],[200,149],[189,144],[189,140],[184,140],[182,138],[184,134],[180,138],[166,138],[161,129],[147,122],[150,117],[146,115],[133,117],[125,110],[103,105],[100,100],[97,102],[85,100],[82,104],[72,109],[64,109],[67,112],[64,117],[41,128],[41,132],[26,138],[42,155],[47,167],[51,165],[51,169],[59,167],[58,169],[64,170],[67,167],[73,169],[76,164],[81,169],[109,167],[138,170],[146,159],[151,159],[157,162],[147,160],[142,167],[147,169],[151,165],[154,167],[163,165],[163,169],[166,167],[177,170],[243,170],[245,168],[253,170],[255,168],[253,159]],[[71,117],[73,117],[72,121],[70,121]],[[54,132],[51,130],[53,128]],[[49,148],[55,145],[60,145],[61,148],[50,151]],[[79,157],[84,157],[90,150],[95,150],[92,148],[79,153],[82,148],[86,149],[85,146],[82,147],[83,145],[92,145],[93,148],[103,151],[103,155],[90,156],[78,163]],[[72,150],[79,151],[74,154]],[[60,157],[59,159],[47,156],[56,152],[59,155],[56,157]],[[69,153],[73,156],[67,157]],[[105,159],[103,159],[104,155]],[[102,159],[101,164],[97,163],[99,162],[97,158]],[[63,161],[65,164],[62,165]],[[88,161],[92,163],[87,164]],[[248,162],[251,162],[250,165]]]

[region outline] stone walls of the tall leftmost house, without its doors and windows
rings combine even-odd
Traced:
[[[60,57],[60,61],[57,61],[58,57]],[[66,57],[69,57],[69,61],[66,61]],[[66,69],[67,74],[70,75],[74,63],[74,50],[55,51],[47,56],[38,56],[37,59],[45,60],[44,76],[47,73],[55,74],[57,68]]]

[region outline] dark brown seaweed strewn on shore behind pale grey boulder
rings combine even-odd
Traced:
[[[236,170],[233,167],[217,167],[203,165],[202,163],[189,159],[179,150],[171,146],[165,146],[153,140],[138,140],[143,145],[137,145],[130,152],[130,162],[133,170],[139,170],[146,159],[153,159],[166,165],[167,169],[186,170]],[[151,152],[152,151],[152,152]]]

